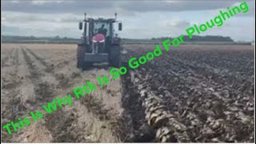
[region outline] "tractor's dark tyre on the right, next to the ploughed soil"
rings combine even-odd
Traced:
[[[120,46],[111,46],[110,47],[110,66],[116,68],[121,67],[122,58],[121,58],[121,47]]]

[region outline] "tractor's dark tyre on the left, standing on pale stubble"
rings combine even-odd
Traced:
[[[85,53],[86,53],[86,48],[82,47],[82,46],[78,46],[78,49],[77,49],[77,58],[78,58],[77,67],[82,69],[82,70],[86,70],[90,67],[90,63],[84,62]]]

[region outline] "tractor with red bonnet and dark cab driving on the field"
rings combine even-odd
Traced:
[[[114,34],[114,23],[118,22],[118,30],[122,30],[122,22],[115,18],[86,18],[79,22],[79,30],[83,30],[81,42],[78,42],[78,68],[86,70],[94,63],[109,62],[110,66],[119,68],[121,58],[121,38]]]

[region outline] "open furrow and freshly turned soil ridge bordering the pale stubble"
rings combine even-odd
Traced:
[[[139,73],[124,77],[123,139],[127,142],[190,142],[186,126],[171,113]],[[133,105],[130,104],[133,103]],[[136,111],[136,113],[134,113]],[[128,134],[128,137],[126,136]]]

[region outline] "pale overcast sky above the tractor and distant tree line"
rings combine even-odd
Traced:
[[[80,38],[78,22],[88,17],[122,21],[122,38],[178,37],[186,28],[202,24],[243,1],[11,1],[2,0],[2,34]],[[254,39],[254,1],[246,14],[229,18],[221,27],[200,35],[230,36],[236,41]]]

